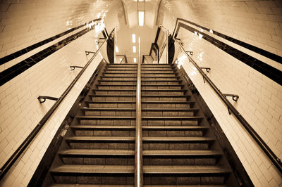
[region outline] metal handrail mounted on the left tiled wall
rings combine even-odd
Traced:
[[[113,30],[114,31],[114,30]],[[112,32],[113,32],[112,31]],[[90,60],[88,60],[88,62],[86,63],[86,65],[82,68],[82,70],[78,73],[78,75],[75,77],[75,79],[73,79],[73,82],[71,82],[71,84],[68,86],[68,88],[66,89],[66,91],[63,92],[63,94],[58,98],[58,100],[56,101],[56,103],[54,103],[54,105],[52,105],[52,107],[48,110],[48,112],[44,115],[44,117],[42,117],[42,120],[40,120],[40,122],[36,125],[35,129],[33,129],[30,134],[27,136],[27,138],[25,138],[25,141],[23,141],[23,143],[20,144],[20,146],[17,148],[17,150],[13,153],[13,155],[11,155],[11,157],[8,158],[8,160],[5,162],[5,164],[3,165],[3,167],[1,167],[0,170],[0,180],[3,179],[4,175],[8,172],[9,169],[11,169],[11,167],[13,166],[13,164],[16,162],[16,160],[18,160],[18,157],[20,157],[20,155],[23,153],[23,151],[25,151],[25,149],[30,145],[30,143],[32,142],[32,140],[35,138],[35,136],[37,136],[38,132],[40,129],[42,129],[42,127],[44,126],[44,124],[47,122],[47,120],[49,119],[49,117],[53,114],[53,112],[56,110],[56,108],[58,108],[58,106],[61,104],[61,102],[63,101],[64,98],[66,98],[67,94],[71,91],[71,89],[73,88],[73,86],[75,86],[75,83],[78,81],[78,79],[81,77],[81,75],[83,74],[83,72],[85,72],[85,70],[87,69],[87,67],[90,65],[90,63],[92,63],[92,60],[97,56],[97,54],[99,53],[100,49],[102,49],[102,46],[104,46],[106,40],[104,41],[104,43],[99,47],[99,49],[96,51],[96,53],[94,53],[94,55],[92,56],[92,58],[90,58]]]

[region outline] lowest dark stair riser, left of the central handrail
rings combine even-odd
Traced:
[[[92,174],[94,175],[94,174]],[[96,184],[96,185],[133,185],[134,174],[125,176],[124,174],[118,174],[106,176],[105,174],[96,174],[96,176],[79,175],[79,176],[58,176],[54,175],[56,183],[81,183],[81,184]]]

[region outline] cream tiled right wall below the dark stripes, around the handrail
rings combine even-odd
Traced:
[[[212,68],[206,74],[222,93],[240,96],[237,102],[228,99],[281,159],[282,86],[192,32],[180,29],[178,37],[186,51],[194,51],[192,58],[200,67]],[[263,150],[240,122],[228,114],[226,105],[209,84],[204,84],[192,63],[178,52],[177,49],[176,56],[183,62],[185,71],[212,110],[255,186],[281,186],[282,176]]]

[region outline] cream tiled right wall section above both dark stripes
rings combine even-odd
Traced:
[[[173,31],[176,18],[185,18],[209,29],[282,56],[281,0],[162,1],[161,22]]]

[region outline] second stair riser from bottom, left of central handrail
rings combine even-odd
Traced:
[[[63,163],[67,165],[134,165],[132,157],[62,157]]]

